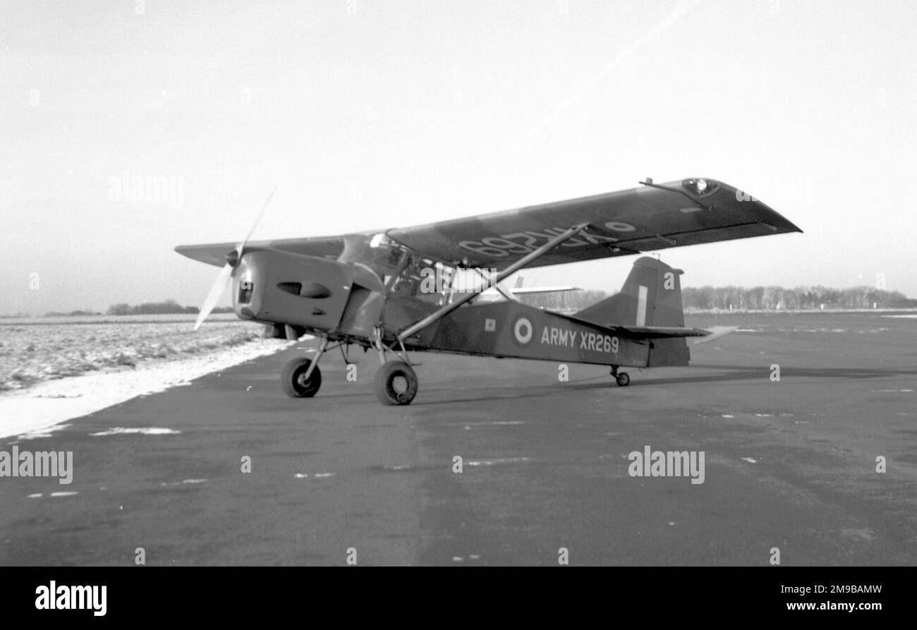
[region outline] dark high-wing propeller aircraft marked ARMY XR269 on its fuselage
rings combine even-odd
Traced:
[[[236,314],[266,324],[267,337],[319,339],[313,359],[293,359],[282,370],[283,390],[293,397],[315,396],[319,360],[340,348],[349,363],[353,345],[379,354],[374,386],[384,404],[414,400],[408,353],[420,351],[605,365],[625,386],[630,377],[621,367],[686,366],[685,337],[712,334],[685,327],[682,271],[641,257],[620,293],[572,315],[522,304],[501,282],[524,268],[802,231],[724,182],[640,184],[422,226],[249,242],[252,227],[241,243],[175,249],[222,267],[195,328],[231,283]],[[455,290],[454,281],[469,273],[481,282]],[[475,300],[492,288],[507,299]]]

